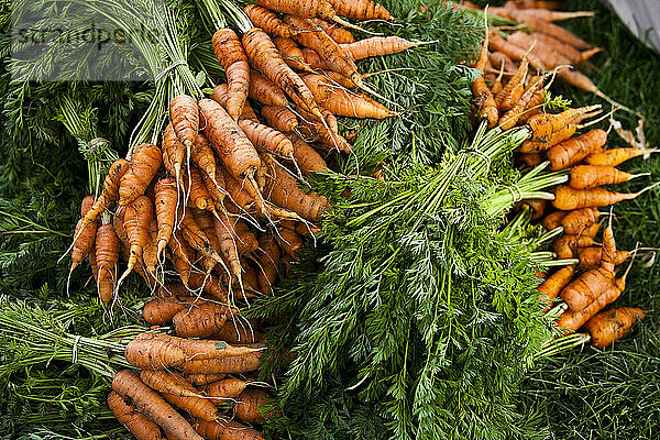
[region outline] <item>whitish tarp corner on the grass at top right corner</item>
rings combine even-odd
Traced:
[[[639,40],[660,53],[660,0],[604,1]]]

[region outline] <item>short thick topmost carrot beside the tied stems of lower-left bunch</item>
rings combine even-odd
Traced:
[[[128,343],[127,362],[140,370],[165,370],[186,360],[186,352],[155,333],[140,333]]]

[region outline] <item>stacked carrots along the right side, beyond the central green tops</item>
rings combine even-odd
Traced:
[[[491,12],[507,12],[509,18],[525,20],[535,16],[531,11],[528,13],[517,10],[513,4],[505,7],[504,11],[496,9]],[[502,66],[510,66],[510,76],[503,75],[506,69],[501,68],[499,75],[494,77],[490,85],[485,75],[477,78],[473,84],[474,111],[479,119],[486,121],[491,127],[509,130],[522,125],[528,129],[529,138],[516,153],[525,165],[534,167],[547,162],[553,172],[570,173],[568,185],[554,188],[552,207],[556,210],[546,215],[542,224],[549,231],[563,228],[562,235],[554,242],[554,253],[559,258],[579,258],[580,264],[560,268],[549,277],[543,276],[546,279],[539,286],[539,293],[547,301],[546,311],[550,310],[554,298],[560,297],[563,300],[559,306],[563,314],[557,321],[562,331],[570,333],[584,328],[596,346],[606,346],[628,332],[635,321],[644,317],[644,312],[636,308],[601,312],[625,289],[626,275],[615,278],[615,266],[626,261],[631,253],[617,252],[612,227],[605,230],[602,245],[597,245],[595,238],[602,226],[598,222],[598,208],[632,199],[654,185],[636,194],[614,193],[602,186],[620,184],[638,177],[639,175],[622,172],[616,166],[652,151],[605,150],[607,132],[601,129],[573,136],[578,130],[590,125],[581,125],[581,122],[596,116],[600,106],[568,109],[557,114],[546,112],[543,81],[549,75],[541,74],[547,67],[537,65],[535,59],[540,58],[532,55],[535,47],[544,47],[539,43],[543,38],[548,40],[548,35],[536,35],[535,38],[534,35],[525,34],[527,40],[520,40],[522,43],[517,48],[520,61],[518,65],[510,63],[506,57],[505,52],[509,51],[502,51],[513,43],[510,40],[515,35],[512,35],[507,43],[496,33],[487,32],[476,68],[486,73],[487,61],[496,59]],[[563,44],[569,43],[564,41]],[[488,53],[488,47],[502,52]],[[587,47],[587,44],[581,44],[572,50]],[[542,59],[552,58],[548,55]],[[530,67],[541,76],[534,76]],[[578,72],[565,72],[569,77],[581,75]],[[526,202],[535,211],[532,219],[544,216],[544,200]]]

